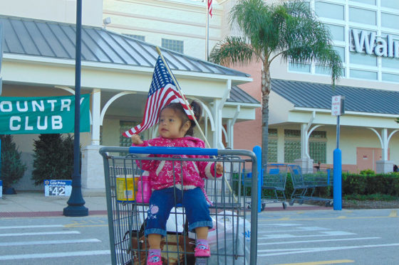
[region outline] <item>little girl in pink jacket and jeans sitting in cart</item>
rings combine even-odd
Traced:
[[[197,102],[190,104],[195,118],[199,120],[202,107]],[[195,122],[191,121],[180,103],[171,103],[160,112],[159,137],[142,141],[140,136],[132,136],[132,146],[200,147],[204,141],[193,137]],[[155,155],[151,155],[155,157]],[[157,155],[170,158],[172,155]],[[207,158],[207,156],[180,156],[182,158]],[[145,236],[150,250],[147,265],[162,265],[160,242],[166,236],[166,222],[170,210],[176,203],[185,207],[188,229],[197,234],[196,257],[209,257],[207,242],[208,229],[212,228],[209,205],[204,193],[203,178],[220,177],[222,163],[207,161],[138,161],[138,166],[150,174],[152,195],[148,209]]]

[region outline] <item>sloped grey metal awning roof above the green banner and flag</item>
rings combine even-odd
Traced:
[[[0,16],[4,53],[75,59],[76,25],[31,18]],[[155,45],[104,28],[82,27],[82,61],[155,67]],[[244,72],[161,48],[172,70],[249,77]]]

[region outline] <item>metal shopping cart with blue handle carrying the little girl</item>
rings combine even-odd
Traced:
[[[105,169],[108,227],[113,264],[145,264],[148,244],[142,235],[147,217],[147,203],[135,198],[137,180],[142,176],[140,161],[172,161],[182,168],[192,161],[220,162],[224,173],[217,180],[205,180],[204,190],[214,227],[209,230],[211,257],[207,264],[257,264],[257,181],[252,182],[252,210],[246,210],[247,191],[241,185],[242,169],[252,166],[257,175],[257,158],[252,151],[212,148],[170,147],[103,147],[100,148]],[[126,154],[121,156],[120,154]],[[170,157],[148,157],[144,154],[168,154]],[[212,156],[211,158],[187,158]],[[180,165],[180,166],[177,166]],[[249,166],[248,166],[249,165]],[[256,179],[255,179],[256,180]],[[244,189],[244,190],[243,190]],[[176,192],[181,192],[176,189]],[[175,201],[167,221],[167,237],[161,242],[163,264],[194,264],[192,242],[195,234],[187,232],[185,209]],[[199,261],[199,260],[197,260]],[[202,259],[204,261],[204,259]]]

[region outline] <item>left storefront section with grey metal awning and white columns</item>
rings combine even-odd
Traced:
[[[43,14],[41,10],[47,6]],[[24,13],[19,9],[30,9]],[[51,9],[51,10],[49,10]],[[0,5],[4,32],[1,97],[48,97],[70,95],[75,84],[76,1],[19,0]],[[99,12],[98,12],[99,11]],[[25,17],[19,16],[22,12]],[[72,13],[73,14],[72,14]],[[51,15],[51,14],[56,15]],[[90,94],[90,132],[81,134],[83,188],[103,189],[100,145],[130,146],[122,132],[140,123],[150,87],[157,51],[155,45],[103,28],[102,3],[83,5],[81,93]],[[244,72],[207,63],[194,57],[161,49],[180,87],[189,99],[204,107],[202,129],[211,146],[221,147],[222,122],[254,119],[259,102],[237,85],[251,82]],[[239,109],[239,112],[237,112]],[[154,133],[155,134],[155,133]],[[146,131],[145,137],[154,135]],[[41,189],[30,179],[33,140],[36,134],[15,134],[28,171],[17,190]]]

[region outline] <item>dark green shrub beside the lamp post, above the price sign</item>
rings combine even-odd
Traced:
[[[73,173],[73,136],[41,134],[33,142],[32,180],[41,185],[43,180],[70,180]]]

